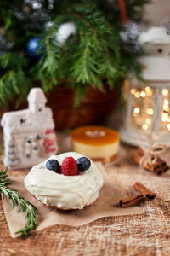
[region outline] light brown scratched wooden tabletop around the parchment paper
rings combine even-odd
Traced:
[[[0,255],[170,255],[170,171],[161,177],[143,171],[131,160],[136,149],[123,148],[127,154],[106,170],[124,195],[134,194],[136,181],[156,192],[154,201],[140,205],[143,215],[100,218],[78,228],[55,225],[12,239],[0,201]]]

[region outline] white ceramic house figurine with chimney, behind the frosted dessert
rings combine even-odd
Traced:
[[[31,89],[28,109],[3,114],[4,165],[11,169],[34,166],[58,151],[51,108],[41,88]]]

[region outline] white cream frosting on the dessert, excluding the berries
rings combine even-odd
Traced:
[[[82,157],[76,152],[52,155],[49,159],[62,164],[65,157],[72,156],[75,160]],[[48,159],[48,160],[49,160]],[[82,209],[91,205],[98,197],[103,185],[103,177],[91,160],[90,168],[77,176],[65,176],[46,168],[44,161],[33,166],[25,178],[26,189],[39,201],[62,209]]]

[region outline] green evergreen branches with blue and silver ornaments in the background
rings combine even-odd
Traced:
[[[148,0],[0,1],[0,101],[26,99],[40,84],[47,92],[65,81],[113,88],[127,73],[139,73],[135,55],[123,47],[122,21],[140,22]]]

